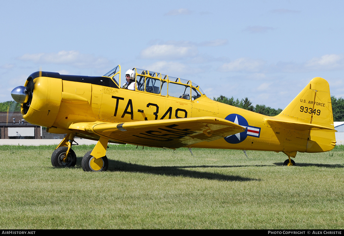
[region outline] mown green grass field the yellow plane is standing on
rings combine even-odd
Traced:
[[[106,172],[53,168],[55,147],[0,146],[2,229],[343,229],[344,147],[298,153],[111,145]]]

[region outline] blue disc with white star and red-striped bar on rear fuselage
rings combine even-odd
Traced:
[[[247,120],[240,116],[239,114],[230,114],[226,118],[226,120],[232,121],[237,125],[245,128],[246,130],[240,133],[236,133],[235,135],[230,135],[224,138],[228,143],[240,143],[244,141],[247,136],[257,137],[260,136],[260,128],[255,126],[249,126]]]

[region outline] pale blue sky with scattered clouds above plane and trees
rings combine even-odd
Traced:
[[[254,106],[283,109],[314,77],[344,97],[344,1],[0,3],[0,102],[40,68],[102,76],[118,64]]]

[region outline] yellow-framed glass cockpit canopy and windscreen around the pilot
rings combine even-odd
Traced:
[[[147,71],[143,69],[132,69],[135,72],[135,90],[160,96],[170,96],[195,100],[204,95],[200,86],[190,80],[171,77],[161,73]],[[121,67],[116,66],[104,76],[110,77],[118,87],[121,87]],[[190,96],[191,95],[191,96]]]

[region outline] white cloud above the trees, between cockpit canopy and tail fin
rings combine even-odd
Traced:
[[[250,58],[239,58],[233,62],[223,64],[219,70],[223,72],[233,72],[233,71],[248,71],[248,72],[258,72],[265,65],[262,60],[253,60]]]

